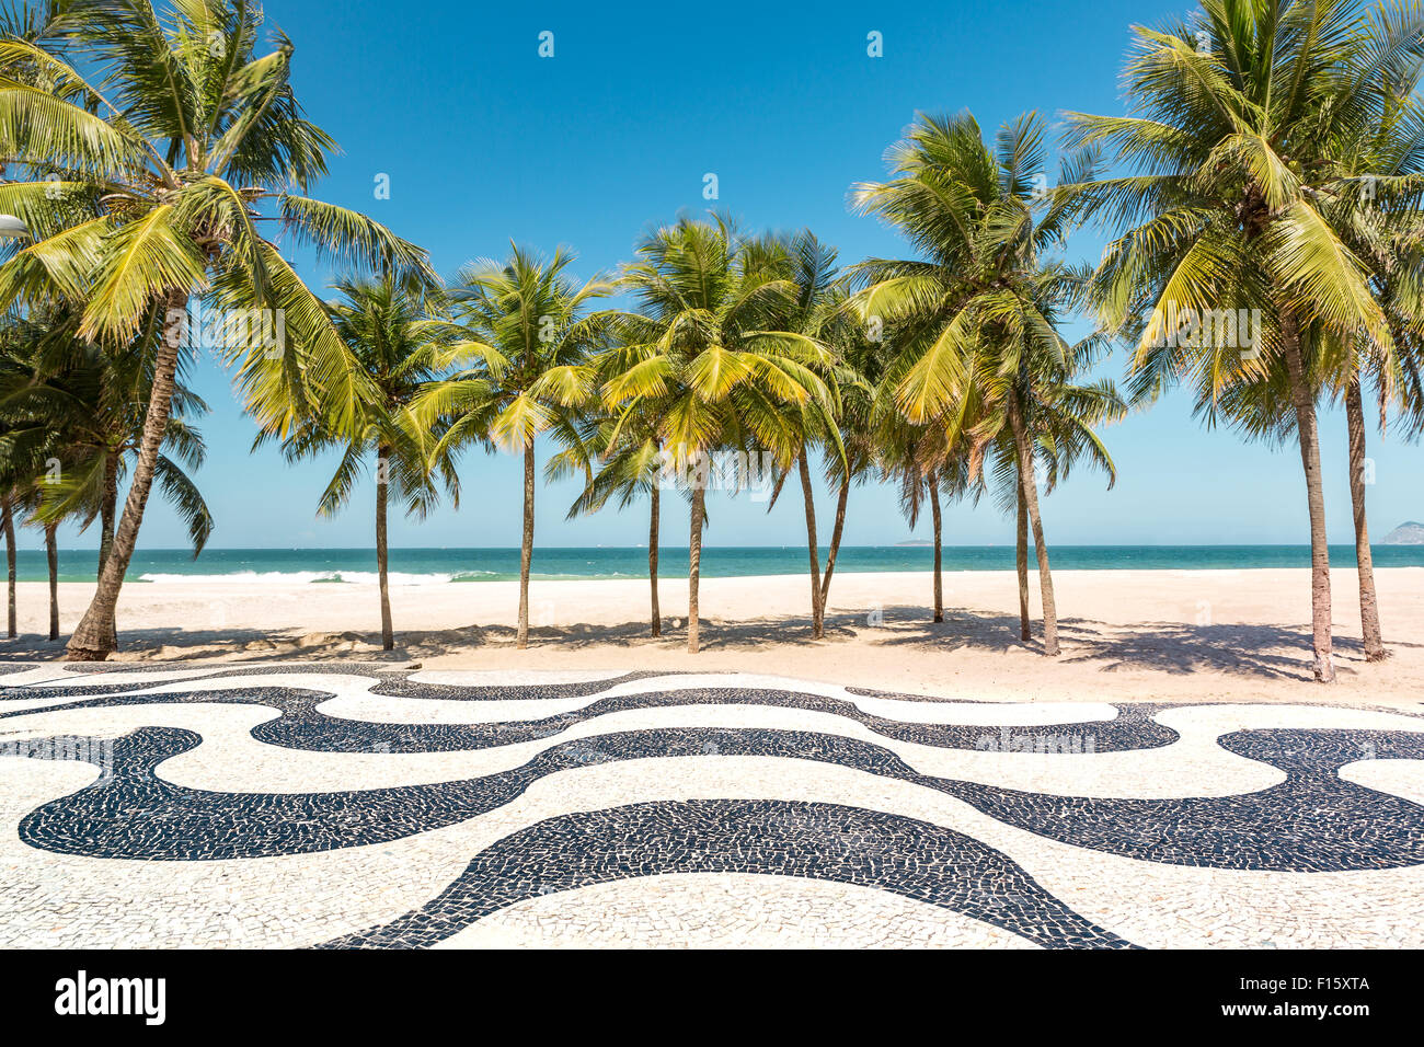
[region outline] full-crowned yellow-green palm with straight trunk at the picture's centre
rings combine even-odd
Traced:
[[[795,288],[721,215],[655,229],[624,268],[622,286],[641,315],[619,318],[619,343],[605,360],[612,377],[602,400],[617,419],[609,443],[618,444],[624,426],[655,419],[662,460],[688,493],[688,651],[695,654],[711,454],[766,453],[789,469],[802,450],[802,410],[812,403],[833,410],[817,373],[830,353],[815,338],[776,329]]]

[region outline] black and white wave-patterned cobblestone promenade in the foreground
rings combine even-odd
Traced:
[[[9,665],[0,947],[1424,946],[1424,718]]]

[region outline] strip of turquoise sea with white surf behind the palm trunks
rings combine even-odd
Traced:
[[[1256,567],[1309,567],[1306,546],[1054,546],[1052,566],[1059,570],[1220,570]],[[659,574],[686,574],[688,550],[664,547]],[[824,563],[824,551],[822,551]],[[1354,566],[1353,546],[1331,546],[1330,563]],[[1424,567],[1424,546],[1376,546],[1377,567]],[[63,581],[93,581],[93,550],[61,550]],[[756,574],[799,574],[806,570],[805,546],[706,547],[702,574],[709,578]],[[926,546],[856,546],[840,550],[837,571],[927,571],[933,550]],[[1012,546],[950,546],[944,550],[948,571],[1012,570]],[[340,584],[375,581],[376,554],[369,548],[211,548],[198,560],[182,550],[144,550],[134,556],[130,581],[232,581]],[[393,548],[393,584],[440,581],[498,581],[517,578],[517,548]],[[21,581],[44,581],[48,574],[43,550],[21,550]],[[645,578],[646,548],[535,548],[535,578]]]

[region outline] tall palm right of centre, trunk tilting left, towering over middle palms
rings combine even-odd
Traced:
[[[857,303],[881,321],[893,359],[879,386],[883,417],[946,432],[936,454],[974,454],[1005,427],[1038,556],[1044,654],[1058,654],[1058,611],[1034,470],[1035,390],[1071,375],[1059,312],[1081,274],[1044,255],[1067,215],[1045,208],[1042,124],[1005,124],[990,150],[968,114],[921,115],[890,150],[889,182],[856,187],[856,205],[897,228],[923,255],[869,259],[853,278]],[[1042,212],[1042,214],[1040,214]],[[933,459],[931,459],[933,460]]]

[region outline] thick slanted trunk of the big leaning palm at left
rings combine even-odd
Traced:
[[[188,292],[175,291],[168,295],[165,309],[188,308]],[[165,313],[169,315],[169,313]],[[154,486],[154,470],[158,467],[158,449],[168,426],[168,412],[174,397],[174,376],[178,368],[178,346],[174,339],[158,339],[158,353],[154,360],[154,385],[148,395],[148,413],[144,416],[144,436],[138,444],[138,460],[134,463],[134,481],[124,501],[124,516],[114,533],[114,544],[104,568],[98,575],[94,600],[80,620],[78,628],[70,637],[70,661],[104,661],[117,647],[114,611],[118,607],[118,593],[124,587],[128,561],[134,557],[138,543],[138,528],[148,507],[148,493]]]

